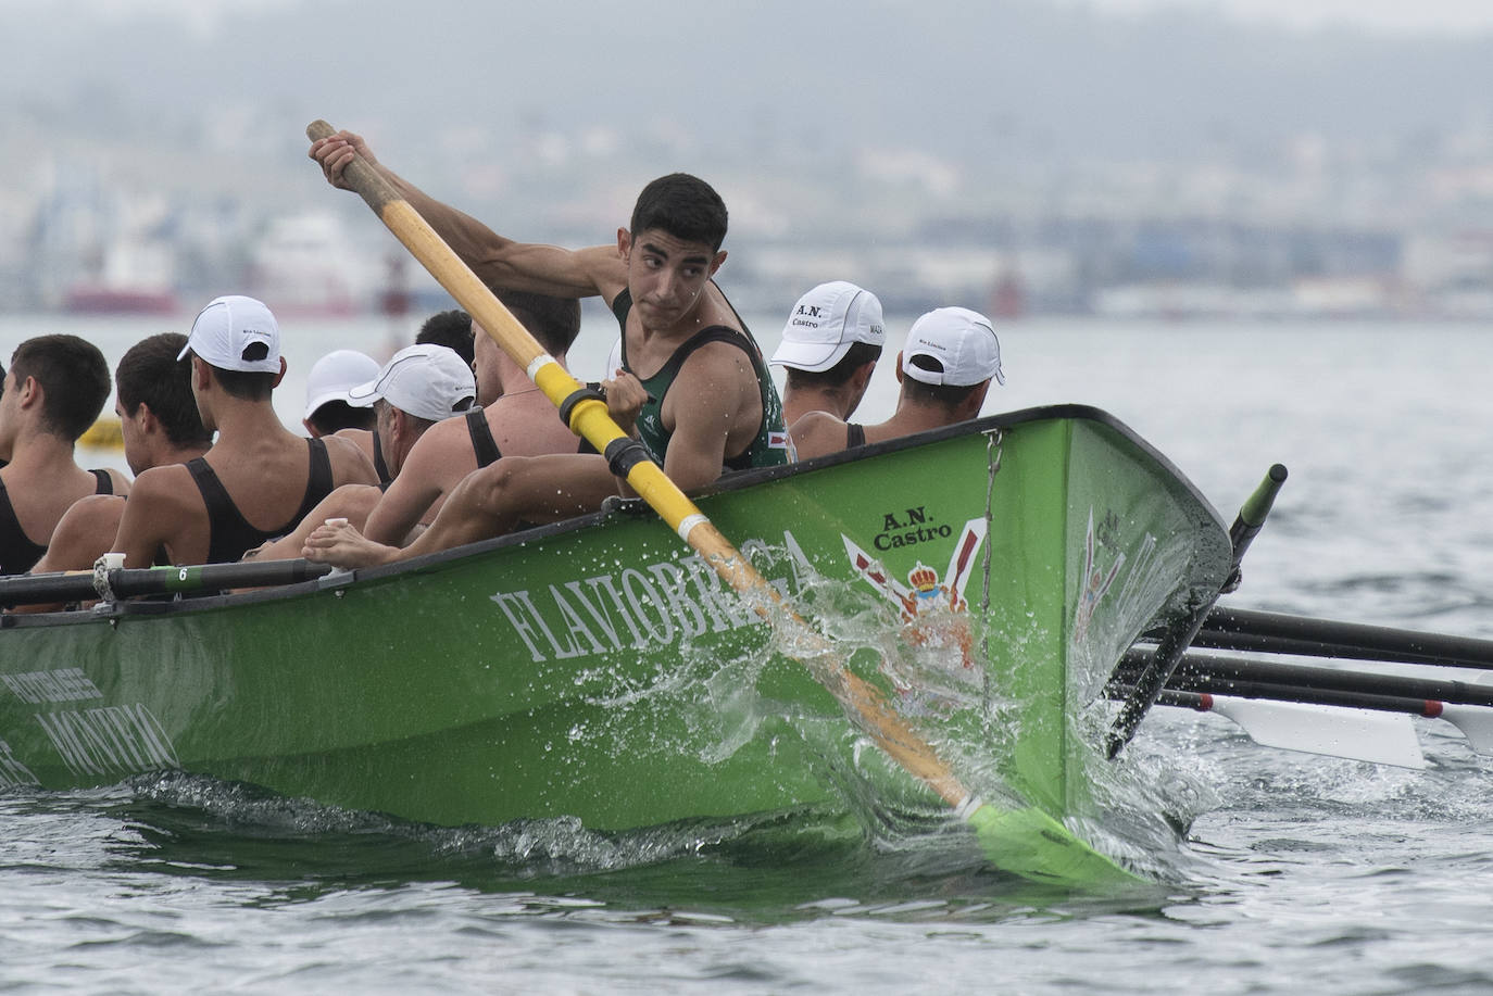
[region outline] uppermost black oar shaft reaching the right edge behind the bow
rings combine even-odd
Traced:
[[[1493,669],[1493,641],[1215,608],[1194,647]]]

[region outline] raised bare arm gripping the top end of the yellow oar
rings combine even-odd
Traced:
[[[348,190],[343,170],[354,155],[363,157],[490,287],[552,297],[600,294],[611,302],[627,285],[627,264],[615,245],[563,249],[500,236],[379,164],[360,134],[337,131],[318,139],[312,142],[309,155],[321,166],[327,182],[340,190]]]

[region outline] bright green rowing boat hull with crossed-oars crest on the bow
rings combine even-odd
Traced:
[[[1227,527],[1160,454],[1096,409],[1042,408],[736,475],[699,505],[994,803],[975,823],[997,863],[1123,878],[1070,833],[1105,682],[1230,569]],[[599,830],[857,793],[950,812],[635,503],[391,567],[3,623],[0,788],[179,768],[434,824]]]

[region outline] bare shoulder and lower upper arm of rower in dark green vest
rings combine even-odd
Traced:
[[[664,473],[684,491],[721,476],[733,436],[749,441],[761,420],[761,396],[746,354],[726,343],[697,349],[669,388],[664,412],[673,435]],[[751,432],[745,436],[746,426]]]

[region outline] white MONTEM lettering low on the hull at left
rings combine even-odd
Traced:
[[[140,703],[37,712],[36,721],[73,775],[181,768],[166,730]]]

